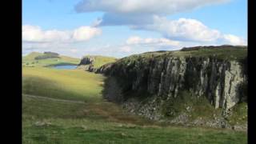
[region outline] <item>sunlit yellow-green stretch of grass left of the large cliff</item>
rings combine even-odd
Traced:
[[[82,70],[23,67],[22,92],[51,98],[100,101],[104,77]]]

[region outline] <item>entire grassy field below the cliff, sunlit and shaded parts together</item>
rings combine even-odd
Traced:
[[[102,98],[105,77],[42,65],[22,68],[22,143],[246,143],[234,130],[169,126]],[[29,97],[26,94],[41,97]],[[76,102],[59,102],[54,99]],[[82,103],[81,103],[82,102]]]

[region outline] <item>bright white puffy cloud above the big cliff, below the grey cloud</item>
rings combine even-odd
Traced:
[[[213,30],[195,19],[179,18],[168,20],[154,17],[154,23],[148,25],[132,26],[134,29],[153,30],[161,33],[166,38],[180,41],[212,42],[220,37],[218,30]]]

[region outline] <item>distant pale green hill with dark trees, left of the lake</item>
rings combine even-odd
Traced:
[[[62,65],[78,65],[79,58],[71,58],[63,55],[52,56],[50,54],[42,54],[32,52],[22,57],[22,66],[62,66]]]

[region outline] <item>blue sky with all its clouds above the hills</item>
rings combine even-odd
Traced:
[[[247,45],[246,0],[22,0],[22,55]]]

